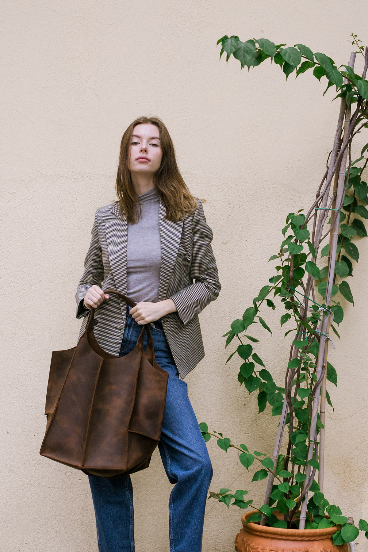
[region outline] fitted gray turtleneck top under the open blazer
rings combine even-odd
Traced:
[[[159,235],[159,194],[156,188],[138,195],[142,216],[136,224],[128,223],[126,248],[127,296],[138,301],[158,301],[161,268]]]

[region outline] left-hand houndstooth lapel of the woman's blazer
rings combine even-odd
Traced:
[[[126,295],[126,247],[128,242],[128,223],[126,216],[121,216],[119,203],[114,203],[111,213],[115,215],[106,224],[106,240],[108,242],[109,261],[113,273],[116,291]],[[121,312],[125,319],[126,304],[119,301]]]

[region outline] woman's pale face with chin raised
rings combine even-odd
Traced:
[[[161,160],[162,150],[157,126],[150,123],[136,125],[130,144],[130,171],[153,175],[158,171]]]

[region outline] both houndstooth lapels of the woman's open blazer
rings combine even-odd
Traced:
[[[110,209],[115,216],[106,225],[106,239],[108,241],[109,261],[114,275],[116,290],[126,295],[126,248],[128,241],[128,224],[126,216],[119,203],[114,203]],[[161,269],[159,277],[158,300],[166,298],[167,289],[177,258],[180,238],[182,237],[184,217],[171,221],[165,219],[166,207],[162,200],[159,202],[158,222],[161,240]],[[125,317],[125,304],[121,302],[122,314]]]

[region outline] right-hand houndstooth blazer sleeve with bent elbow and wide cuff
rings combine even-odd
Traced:
[[[188,324],[211,301],[217,299],[221,289],[211,247],[212,230],[206,223],[200,202],[193,214],[192,227],[193,253],[190,279],[194,280],[194,283],[170,296],[177,307],[179,320],[184,325]]]

